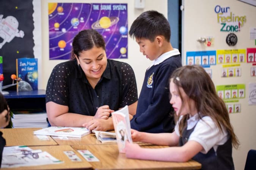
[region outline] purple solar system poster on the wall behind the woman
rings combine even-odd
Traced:
[[[49,58],[71,59],[72,41],[83,29],[104,38],[108,59],[127,59],[127,3],[49,3]]]

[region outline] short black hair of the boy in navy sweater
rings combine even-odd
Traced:
[[[145,11],[134,20],[129,31],[132,38],[145,38],[151,42],[155,37],[162,35],[166,41],[170,42],[171,29],[165,16],[157,11]]]

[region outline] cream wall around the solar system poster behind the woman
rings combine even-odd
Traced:
[[[60,2],[60,3],[127,3],[128,5],[128,30],[138,15],[144,11],[157,10],[165,15],[167,18],[167,0],[146,0],[144,9],[135,9],[134,0],[42,0],[42,83],[39,84],[39,89],[46,89],[47,80],[55,65],[66,60],[49,60],[49,23],[48,23],[48,3]],[[151,61],[146,59],[139,51],[139,46],[135,40],[128,38],[128,59],[118,59],[122,62],[129,63],[136,76],[138,94],[140,93],[141,86],[144,79],[144,73]]]

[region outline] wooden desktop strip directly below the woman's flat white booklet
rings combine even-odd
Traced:
[[[59,136],[51,136],[58,145],[98,145],[98,144],[116,144],[116,143],[102,143],[97,140],[94,133],[87,134],[82,138],[71,138],[68,137],[68,140],[61,139]]]

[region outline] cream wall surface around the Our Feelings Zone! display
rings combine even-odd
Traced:
[[[256,7],[240,2],[238,0],[184,0],[184,34],[182,34],[182,61],[185,64],[187,51],[210,51],[218,49],[246,49],[256,48],[254,40],[250,40],[250,28],[256,27]],[[214,12],[216,5],[230,7],[235,15],[246,15],[246,23],[237,35],[237,44],[228,46],[226,36],[230,32],[220,32],[221,25],[217,23],[217,14]],[[213,36],[214,46],[206,47],[196,40],[199,37]],[[240,148],[233,149],[235,169],[242,170],[245,166],[247,153],[250,149],[256,149],[256,105],[248,105],[249,91],[248,84],[256,83],[255,77],[250,76],[250,63],[240,63],[241,77],[221,77],[222,65],[210,66],[212,69],[212,80],[216,85],[245,84],[245,98],[239,99],[241,113],[229,114],[234,132],[240,141]],[[232,104],[232,103],[230,103]]]

